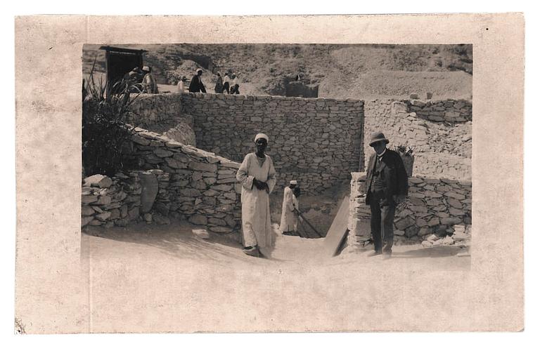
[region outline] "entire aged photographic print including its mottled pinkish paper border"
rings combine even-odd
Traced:
[[[521,20],[20,18],[15,330],[520,330]]]

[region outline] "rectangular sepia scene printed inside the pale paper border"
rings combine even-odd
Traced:
[[[468,269],[472,45],[84,45],[82,59],[84,251]]]

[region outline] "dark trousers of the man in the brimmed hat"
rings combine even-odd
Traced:
[[[371,236],[375,244],[375,251],[383,251],[383,241],[386,243],[385,252],[392,251],[394,244],[394,201],[387,201],[380,193],[371,192],[369,201],[371,208]]]

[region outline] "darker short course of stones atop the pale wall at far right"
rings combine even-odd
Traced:
[[[459,123],[473,121],[473,104],[470,100],[420,101],[404,100],[407,112],[416,112],[418,117],[429,121]]]

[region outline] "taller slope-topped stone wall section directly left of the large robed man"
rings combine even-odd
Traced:
[[[168,174],[160,185],[156,208],[213,232],[232,232],[240,225],[240,164],[210,152],[135,128],[131,155],[143,169]]]

